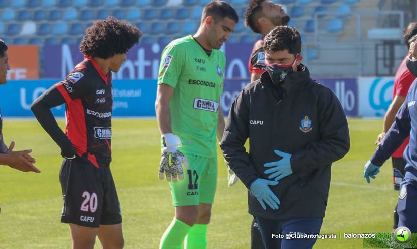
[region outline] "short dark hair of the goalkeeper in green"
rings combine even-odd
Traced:
[[[218,22],[224,18],[230,18],[236,23],[239,22],[239,16],[233,7],[224,1],[212,1],[204,6],[203,13],[201,16],[201,22],[208,16],[213,17],[215,22]]]

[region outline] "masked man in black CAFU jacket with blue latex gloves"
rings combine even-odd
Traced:
[[[350,147],[346,116],[333,92],[301,64],[295,28],[272,30],[264,49],[267,72],[233,102],[220,147],[250,190],[249,213],[266,248],[311,248],[316,238],[294,238],[320,232],[331,164]],[[272,236],[287,233],[294,237]]]

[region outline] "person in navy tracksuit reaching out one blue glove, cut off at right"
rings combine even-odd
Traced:
[[[417,35],[409,40],[410,55],[406,65],[412,75],[417,77]],[[407,227],[411,233],[417,233],[417,80],[411,84],[403,105],[398,110],[391,128],[376,148],[371,159],[365,164],[364,177],[368,183],[375,179],[379,168],[390,158],[409,136],[410,142],[404,150],[406,162],[404,179],[400,183],[397,202],[398,227]]]

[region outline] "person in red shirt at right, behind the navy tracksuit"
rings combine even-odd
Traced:
[[[404,29],[403,38],[404,42],[407,45],[407,49],[410,48],[410,44],[408,40],[410,40],[414,35],[417,34],[417,22],[411,22],[408,24],[407,28]],[[410,53],[407,52],[407,55],[404,57],[403,61],[401,62],[400,66],[397,69],[394,77],[394,90],[393,90],[393,101],[391,102],[390,107],[386,110],[384,121],[383,121],[383,130],[378,135],[375,144],[379,145],[382,139],[385,137],[386,132],[392,126],[395,120],[395,114],[397,114],[398,110],[400,109],[401,105],[405,101],[405,97],[407,96],[407,92],[410,89],[412,82],[415,80],[415,76],[411,74],[411,72],[407,69],[406,61],[409,57]],[[394,183],[394,190],[400,190],[400,182],[403,181],[404,178],[404,167],[405,167],[405,160],[403,158],[403,153],[405,147],[407,147],[410,138],[407,137],[405,141],[401,144],[401,146],[391,155],[391,160],[393,164],[393,183]],[[397,205],[394,209],[394,230],[398,227],[398,213],[397,213]]]

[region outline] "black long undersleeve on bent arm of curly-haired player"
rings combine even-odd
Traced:
[[[57,85],[54,85],[34,101],[31,110],[43,129],[45,129],[53,141],[61,148],[61,155],[71,158],[75,155],[74,147],[61,128],[59,128],[51,111],[51,108],[64,103],[64,97],[57,89]]]

